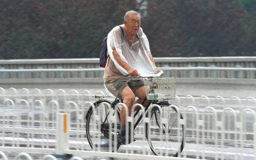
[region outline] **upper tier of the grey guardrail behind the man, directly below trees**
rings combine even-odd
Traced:
[[[0,67],[17,68],[97,68],[99,58],[85,59],[33,59],[33,60],[0,60]],[[156,57],[157,67],[256,67],[256,57]]]

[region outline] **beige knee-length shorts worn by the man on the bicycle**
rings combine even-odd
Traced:
[[[117,98],[121,98],[121,93],[127,86],[130,87],[133,92],[144,86],[143,80],[127,81],[128,79],[104,80],[104,84],[108,88],[108,91]]]

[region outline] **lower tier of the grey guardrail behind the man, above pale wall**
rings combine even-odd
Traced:
[[[160,67],[165,77],[256,79],[256,68]],[[0,79],[102,78],[104,68],[0,69]]]

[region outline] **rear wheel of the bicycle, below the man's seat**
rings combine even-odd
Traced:
[[[120,115],[113,108],[108,107],[107,104],[110,103],[108,100],[97,101],[94,104],[95,110],[93,111],[91,107],[86,115],[86,136],[94,151],[113,152],[115,148],[118,150],[120,147],[120,144],[115,141],[120,131]],[[109,140],[109,123],[112,124],[111,141]]]

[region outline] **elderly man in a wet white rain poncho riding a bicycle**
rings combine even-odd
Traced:
[[[130,80],[124,75],[156,76],[162,71],[155,67],[150,53],[147,36],[141,28],[141,17],[135,11],[128,11],[124,24],[114,27],[108,33],[108,60],[104,71],[104,84],[108,91],[121,98],[128,107],[128,115],[134,103],[146,100],[146,87],[142,80]],[[135,102],[135,97],[139,99]],[[144,106],[148,101],[144,101]],[[125,108],[121,108],[120,140],[125,141]],[[129,140],[130,141],[130,140]]]

